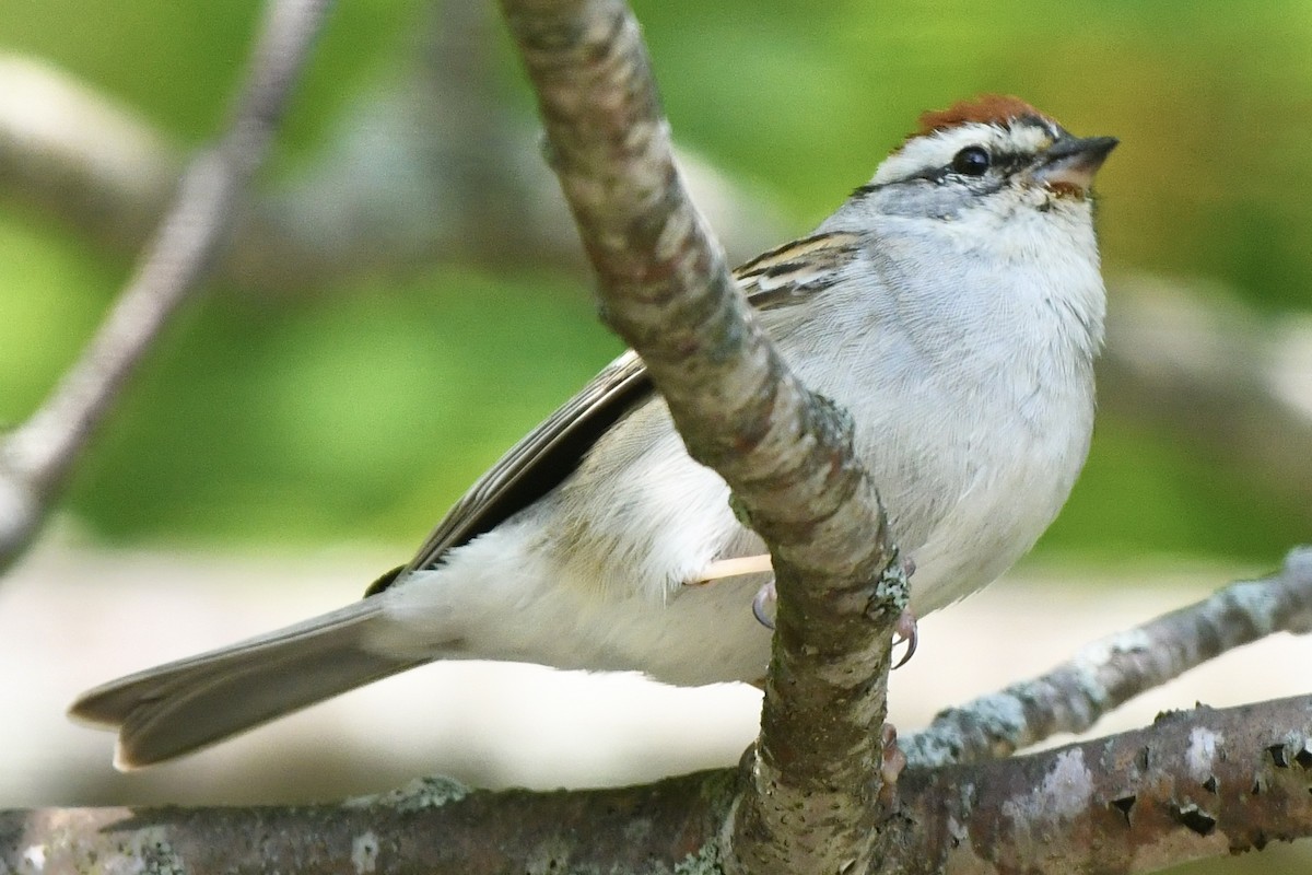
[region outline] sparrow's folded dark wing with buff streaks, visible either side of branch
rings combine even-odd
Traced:
[[[753,307],[786,307],[823,289],[854,257],[861,240],[849,232],[817,234],[771,249],[733,275]],[[647,367],[636,353],[628,350],[613,361],[470,487],[401,575],[432,567],[447,550],[489,531],[559,485],[597,438],[651,394]],[[390,582],[384,577],[370,594]]]

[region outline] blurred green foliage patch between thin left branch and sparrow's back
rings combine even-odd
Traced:
[[[218,298],[189,323],[77,480],[105,535],[417,544],[619,350],[559,282],[458,269],[294,308]]]

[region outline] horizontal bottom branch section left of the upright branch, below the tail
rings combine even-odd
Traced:
[[[0,812],[0,872],[672,872],[710,853],[731,771],[647,787],[470,791],[420,779],[331,805]],[[167,866],[165,866],[167,863]]]

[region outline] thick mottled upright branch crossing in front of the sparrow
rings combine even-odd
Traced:
[[[618,0],[502,0],[606,321],[647,363],[693,458],[770,546],[779,607],[727,871],[865,871],[888,639],[905,581],[850,422],[787,371],[689,202],[638,22]],[[823,719],[819,715],[824,715]]]

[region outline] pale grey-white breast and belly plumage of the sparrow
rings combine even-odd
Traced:
[[[891,234],[806,311],[764,314],[803,382],[851,412],[916,561],[918,614],[992,581],[1064,502],[1088,451],[1102,324],[1096,252],[1059,277],[1025,257],[998,270],[930,252],[942,247]],[[762,550],[728,500],[653,401],[554,493],[388,590],[378,647],[684,685],[756,680],[769,631],[750,601],[764,579],[684,586],[715,559]]]

